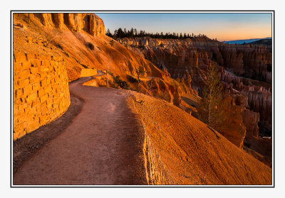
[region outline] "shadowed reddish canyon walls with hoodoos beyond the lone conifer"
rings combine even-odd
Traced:
[[[207,37],[117,40],[130,45],[161,70],[167,70],[170,77],[187,79],[190,76],[192,89],[200,96],[207,67],[217,62],[229,98],[234,99],[234,104],[229,101],[229,106],[239,111],[239,116],[232,115],[232,123],[241,124],[239,129],[232,126],[237,133],[226,134],[228,131],[222,130],[235,145],[242,147],[246,131],[249,136],[259,136],[259,126],[271,128],[271,51],[265,46],[228,45]],[[248,123],[248,118],[252,123]]]

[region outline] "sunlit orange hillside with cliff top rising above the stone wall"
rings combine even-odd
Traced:
[[[46,40],[51,40],[48,46]],[[14,14],[14,52],[60,55],[66,62],[69,81],[83,74],[95,75],[97,70],[109,67],[114,76],[128,82],[127,75],[135,77],[135,70],[143,67],[149,78],[142,80],[142,92],[153,95],[152,86],[157,95],[167,93],[168,101],[173,101],[177,92],[179,95],[193,94],[187,84],[170,78],[152,62],[116,40],[111,45],[111,40],[105,35],[102,19],[93,13]],[[135,83],[128,83],[135,89]]]

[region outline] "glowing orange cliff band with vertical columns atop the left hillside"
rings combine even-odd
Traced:
[[[103,20],[93,13],[29,13],[28,17],[36,16],[43,26],[69,28],[71,31],[86,31],[90,35],[105,35]]]

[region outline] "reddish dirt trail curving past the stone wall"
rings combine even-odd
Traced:
[[[71,83],[85,102],[71,125],[14,174],[14,185],[145,185],[143,134],[129,92]]]

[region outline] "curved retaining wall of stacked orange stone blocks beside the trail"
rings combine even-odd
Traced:
[[[61,57],[14,53],[14,140],[61,116],[71,103]]]

